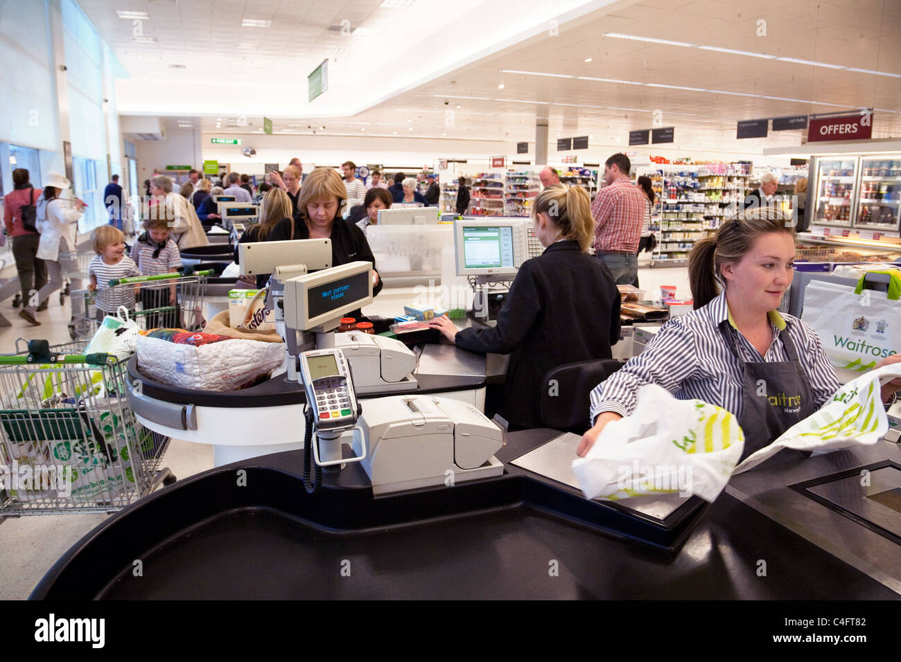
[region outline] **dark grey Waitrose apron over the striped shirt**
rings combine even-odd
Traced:
[[[788,331],[779,334],[788,360],[769,363],[744,361],[734,334],[725,326],[720,327],[720,331],[724,335],[726,346],[732,350],[742,367],[743,406],[739,425],[744,432],[743,460],[751,453],[769,446],[796,422],[815,413],[814,392],[797,359],[795,343],[789,338]]]

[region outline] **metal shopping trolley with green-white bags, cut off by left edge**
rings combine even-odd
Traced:
[[[0,517],[114,512],[175,482],[128,405],[125,363],[86,342],[0,355]]]

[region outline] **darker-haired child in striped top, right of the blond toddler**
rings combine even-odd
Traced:
[[[169,218],[170,214],[172,218]],[[174,222],[174,215],[161,205],[159,213],[156,214],[157,217],[151,216],[144,222],[144,232],[132,246],[132,259],[144,276],[171,274],[181,267],[181,255],[171,236],[170,223]],[[155,329],[162,326],[167,329],[177,329],[181,326],[181,322],[179,321],[175,281],[151,281],[141,287],[141,308],[145,312],[170,306],[174,310],[148,313],[145,328]]]

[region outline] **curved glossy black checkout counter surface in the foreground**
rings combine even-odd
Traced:
[[[556,434],[512,433],[497,458]],[[898,598],[727,494],[671,515],[678,540],[663,549],[639,541],[646,523],[605,530],[614,508],[509,464],[373,497],[359,465],[309,496],[302,461],[253,458],[151,494],[80,540],[32,598]]]

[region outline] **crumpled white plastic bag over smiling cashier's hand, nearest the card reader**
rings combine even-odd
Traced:
[[[700,400],[678,400],[644,385],[631,416],[609,422],[585,458],[572,463],[588,499],[723,491],[744,449],[738,419]]]

